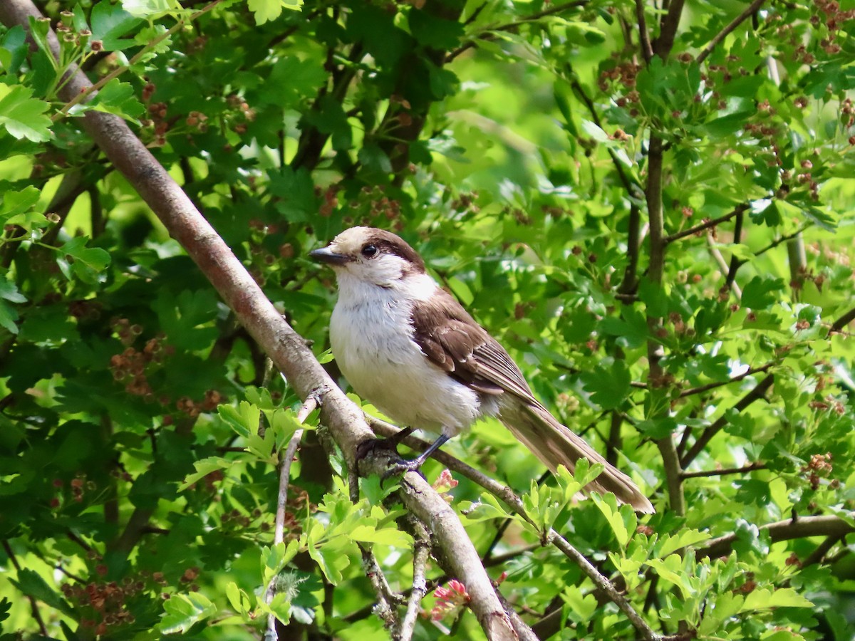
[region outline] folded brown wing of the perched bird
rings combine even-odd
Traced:
[[[424,355],[452,377],[485,394],[510,392],[534,402],[516,363],[446,291],[416,303],[413,340]]]

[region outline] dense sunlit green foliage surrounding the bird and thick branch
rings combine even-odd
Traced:
[[[294,634],[367,641],[388,632],[355,542],[411,579],[390,488],[352,505],[322,429],[269,547],[298,399],[82,132],[89,109],[132,123],[319,356],[333,285],[307,252],[355,224],[409,240],[657,515],[532,485],[498,423],[446,449],[654,629],[853,637],[855,4],[757,2],[724,32],[745,3],[640,3],[649,62],[624,0],[38,4],[32,45],[0,32],[3,638],[261,638],[274,580]],[[121,73],[65,104],[70,64]],[[635,638],[536,529],[465,479],[450,495],[542,637]],[[817,516],[834,529],[787,528]],[[416,635],[444,632],[483,635],[461,608]]]

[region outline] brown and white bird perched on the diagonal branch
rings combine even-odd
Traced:
[[[336,276],[329,338],[347,382],[405,426],[399,433],[439,432],[422,455],[402,461],[403,469],[420,468],[450,438],[494,416],[553,473],[560,465],[573,472],[581,457],[602,463],[585,491],[613,492],[638,512],[655,511],[627,474],[534,397],[504,347],[439,286],[403,238],[354,226],[309,255]]]

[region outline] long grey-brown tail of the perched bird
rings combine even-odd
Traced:
[[[564,465],[573,472],[576,461],[582,456],[592,463],[604,463],[603,473],[585,486],[586,491],[596,491],[600,494],[614,492],[619,502],[632,505],[637,512],[652,514],[656,511],[632,479],[606,462],[581,437],[555,420],[540,404],[522,403],[519,399],[502,403],[498,419],[552,472],[555,472],[559,465]]]

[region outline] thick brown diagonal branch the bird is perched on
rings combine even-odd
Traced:
[[[31,0],[0,3],[0,21],[7,26],[20,24],[26,28],[30,16],[41,17]],[[50,45],[56,55],[59,44],[53,32],[50,32]],[[72,69],[71,74],[61,91],[62,99],[67,101],[91,87],[89,79],[77,69]],[[298,396],[305,399],[313,390],[326,390],[321,420],[341,447],[348,467],[356,469],[357,445],[372,438],[371,431],[362,412],[321,368],[304,339],[282,318],[232,250],[121,118],[89,111],[85,113],[83,126],[196,262]],[[487,637],[516,639],[457,515],[418,474],[408,473],[402,486],[406,488],[402,493],[406,507],[431,526],[438,544],[454,551],[450,566],[467,585],[472,596],[471,607]]]

